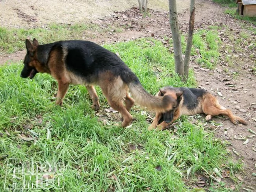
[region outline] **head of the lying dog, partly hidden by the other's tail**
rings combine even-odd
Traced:
[[[163,120],[166,123],[171,123],[175,114],[175,111],[178,109],[180,105],[180,101],[182,100],[182,96],[184,94],[184,88],[174,88],[174,87],[163,87],[159,89],[158,96],[170,96],[173,101],[171,103],[171,110],[163,113]]]

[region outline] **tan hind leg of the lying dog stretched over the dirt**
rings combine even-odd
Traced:
[[[238,122],[244,125],[247,124],[245,120],[243,120],[238,116],[234,116],[229,109],[226,109],[225,107],[220,105],[218,100],[211,94],[206,94],[204,96],[203,103],[202,103],[202,110],[205,114],[211,115],[211,116],[217,116],[220,114],[224,116],[228,116],[228,118],[230,118],[230,121],[236,125],[238,124]]]

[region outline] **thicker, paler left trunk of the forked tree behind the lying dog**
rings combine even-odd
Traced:
[[[169,14],[171,31],[173,36],[175,72],[182,77],[182,81],[186,81],[186,78],[184,76],[184,60],[182,55],[180,30],[178,26],[176,0],[169,0]]]

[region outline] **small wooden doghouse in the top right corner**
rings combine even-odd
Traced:
[[[256,0],[237,0],[237,13],[247,17],[256,17]]]

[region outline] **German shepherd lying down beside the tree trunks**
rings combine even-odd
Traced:
[[[204,89],[190,89],[184,87],[163,87],[158,92],[158,96],[164,97],[169,95],[172,98],[171,110],[162,113],[157,112],[152,124],[148,127],[148,130],[155,129],[162,130],[182,114],[195,115],[198,113],[206,114],[206,120],[211,120],[212,116],[224,115],[230,118],[230,121],[234,124],[244,124],[247,122],[238,116],[234,116],[229,109],[221,106],[218,100]],[[163,118],[163,122],[158,122]]]

